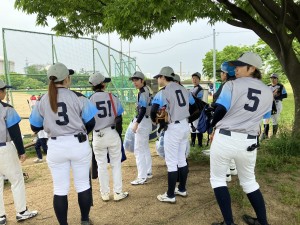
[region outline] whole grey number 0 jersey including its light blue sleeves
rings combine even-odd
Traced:
[[[189,104],[194,102],[193,96],[183,86],[170,82],[155,95],[152,104],[166,107],[169,123],[173,123],[189,117]]]

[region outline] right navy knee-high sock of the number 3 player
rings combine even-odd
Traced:
[[[81,212],[81,221],[89,221],[89,214],[92,205],[91,188],[78,193],[78,204]]]

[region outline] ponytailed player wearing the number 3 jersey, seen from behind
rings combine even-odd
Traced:
[[[72,74],[74,71],[62,63],[49,67],[48,93],[37,102],[29,118],[33,132],[44,129],[48,133],[47,163],[53,179],[54,211],[60,225],[68,224],[70,169],[78,193],[81,224],[90,224],[92,200],[89,183],[92,150],[87,133],[94,128],[98,110],[82,94],[68,89]]]

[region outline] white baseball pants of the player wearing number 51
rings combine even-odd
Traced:
[[[99,135],[103,135],[100,137]],[[115,193],[122,192],[122,171],[121,171],[121,139],[118,132],[111,127],[93,131],[93,151],[98,165],[98,177],[100,192],[109,193],[109,174],[107,170],[107,153],[112,168],[113,190]]]

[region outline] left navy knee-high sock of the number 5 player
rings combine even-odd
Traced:
[[[215,196],[226,224],[233,223],[231,199],[227,187],[214,188]]]

